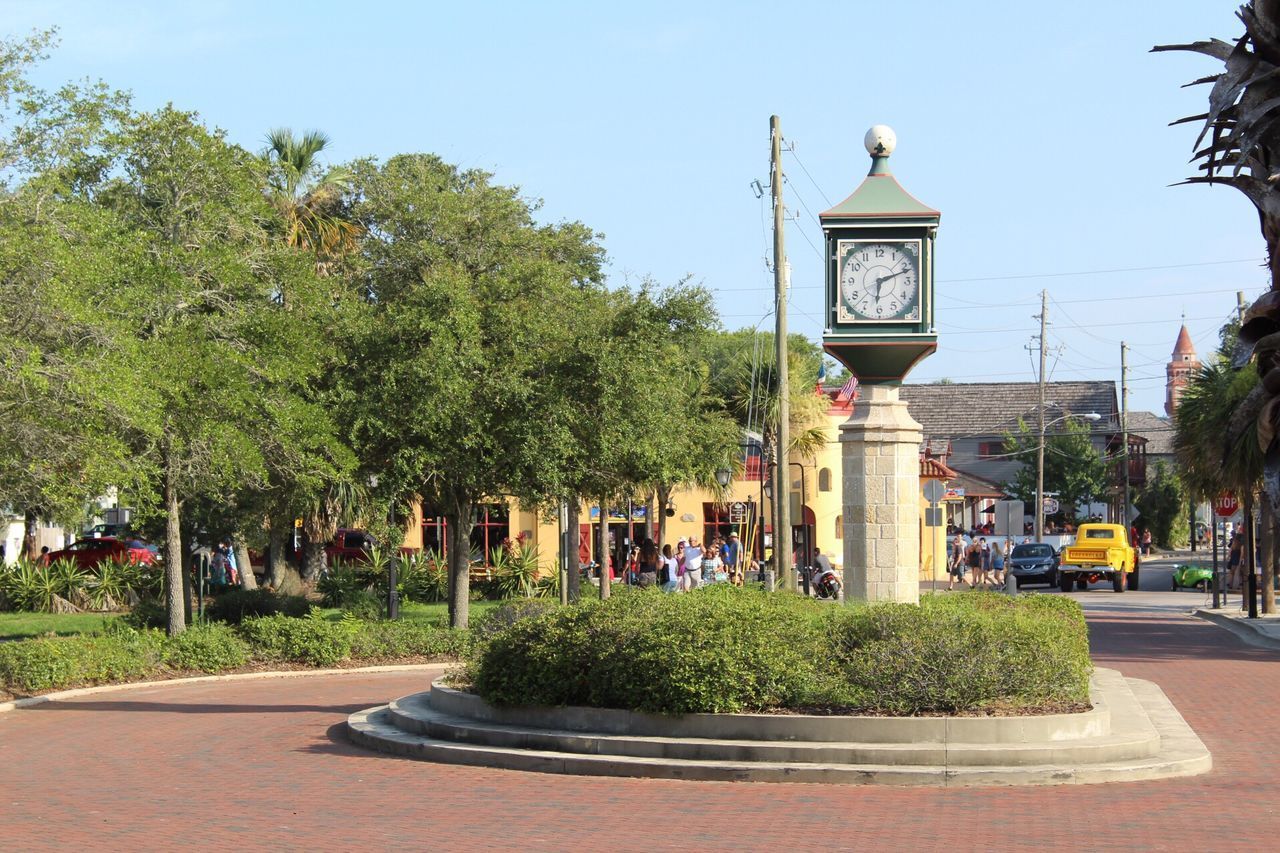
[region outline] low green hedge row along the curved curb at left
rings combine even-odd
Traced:
[[[100,634],[0,643],[0,686],[37,693],[175,671],[224,672],[250,662],[332,666],[347,660],[456,657],[468,642],[466,631],[419,622],[333,622],[319,615],[246,619],[239,626],[205,622],[173,638],[111,622]]]

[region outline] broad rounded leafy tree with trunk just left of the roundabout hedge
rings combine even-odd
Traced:
[[[430,155],[353,170],[369,301],[343,410],[380,491],[443,511],[449,621],[462,628],[477,505],[553,491],[572,443],[553,353],[602,251],[577,223],[538,224],[534,205],[484,172]]]

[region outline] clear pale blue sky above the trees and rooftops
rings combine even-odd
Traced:
[[[1053,379],[1119,379],[1162,412],[1183,315],[1201,352],[1235,291],[1267,287],[1243,195],[1190,174],[1208,58],[1238,0],[1076,4],[81,3],[0,0],[6,35],[58,26],[46,85],[102,78],[261,146],[320,128],[332,160],[431,151],[604,234],[611,279],[712,288],[728,328],[772,325],[768,119],[785,155],[791,328],[822,333],[814,215],[861,181],[868,127],[942,210],[938,353],[922,382],[1033,380],[1050,292]]]

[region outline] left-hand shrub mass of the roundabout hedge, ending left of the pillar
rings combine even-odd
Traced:
[[[813,681],[817,611],[710,587],[618,594],[518,620],[471,660],[499,704],[726,712],[794,704]]]

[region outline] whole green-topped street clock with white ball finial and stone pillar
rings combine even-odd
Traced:
[[[897,145],[867,132],[872,168],[823,213],[827,323],[823,348],[858,377],[852,415],[840,426],[844,465],[845,593],[849,601],[920,599],[920,424],[899,398],[906,374],[932,353],[933,240],[941,214],[888,169]]]

